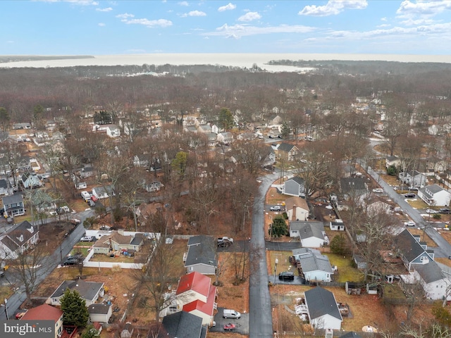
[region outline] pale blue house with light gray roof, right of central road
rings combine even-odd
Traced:
[[[309,248],[305,248],[309,249]],[[301,277],[307,282],[311,281],[321,281],[321,282],[331,282],[332,281],[332,265],[328,256],[321,255],[321,253],[315,251],[310,251],[306,253],[297,253],[296,261],[299,262],[301,267]]]

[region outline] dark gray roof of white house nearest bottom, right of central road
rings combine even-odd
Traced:
[[[311,319],[319,318],[323,315],[331,315],[342,320],[337,301],[335,301],[335,296],[333,296],[332,292],[322,287],[315,287],[306,291],[304,295]]]

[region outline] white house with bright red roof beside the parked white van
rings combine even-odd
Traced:
[[[216,287],[211,284],[210,277],[197,272],[183,275],[178,282],[175,299],[178,308],[202,318],[202,325],[213,325],[218,304]]]

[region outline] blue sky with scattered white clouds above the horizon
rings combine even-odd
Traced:
[[[451,0],[1,0],[0,55],[451,54]]]

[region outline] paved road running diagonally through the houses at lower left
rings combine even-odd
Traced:
[[[42,282],[49,273],[51,273],[56,266],[61,263],[61,257],[64,257],[70,253],[70,250],[73,249],[73,246],[78,243],[78,240],[80,237],[82,237],[83,234],[85,234],[85,228],[83,227],[83,220],[85,220],[87,217],[90,217],[94,215],[94,211],[82,211],[81,213],[75,214],[74,218],[78,218],[82,222],[75,227],[73,232],[64,239],[62,242],[60,248],[56,249],[56,251],[49,256],[46,260],[42,262],[42,268],[39,269],[39,273],[37,276],[37,284]],[[6,271],[6,282],[10,282],[12,284],[16,284],[14,280],[14,276],[9,272]],[[2,281],[3,282],[3,281]],[[16,291],[15,294],[13,294],[8,299],[7,303],[7,310],[8,310],[8,316],[9,318],[14,318],[13,315],[16,313],[18,308],[22,305],[23,301],[27,298],[24,287],[20,286],[19,289]],[[3,303],[3,302],[2,302]],[[4,306],[0,307],[0,320],[6,319],[6,313],[4,311]]]

